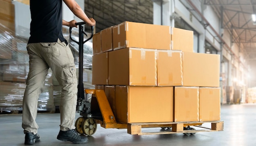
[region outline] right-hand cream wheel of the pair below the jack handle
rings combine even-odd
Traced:
[[[91,136],[97,130],[97,123],[93,118],[87,118],[83,121],[82,129],[85,135]]]

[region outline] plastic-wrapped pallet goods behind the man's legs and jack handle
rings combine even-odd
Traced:
[[[69,39],[69,29],[63,27],[63,35],[72,49],[78,70],[79,46]],[[74,33],[74,34],[73,34]],[[77,31],[72,31],[78,40]],[[25,80],[29,72],[29,55],[27,54],[28,38],[22,38],[4,25],[0,24],[0,114],[2,111],[21,111],[25,91]],[[84,44],[84,84],[85,88],[93,88],[92,82],[92,41]],[[77,73],[78,75],[78,73]],[[56,79],[55,79],[56,80]],[[55,111],[59,105],[61,89],[54,87],[54,75],[51,70],[45,80],[45,89],[38,99],[38,111]]]

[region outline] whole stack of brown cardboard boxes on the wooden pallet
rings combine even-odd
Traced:
[[[117,122],[220,120],[220,56],[193,53],[193,31],[123,22],[94,35],[93,50],[92,84]]]

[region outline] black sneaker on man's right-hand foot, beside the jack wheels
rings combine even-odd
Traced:
[[[78,135],[75,129],[71,129],[68,131],[60,131],[58,133],[57,139],[64,142],[66,141],[73,142],[74,144],[88,143],[88,138]]]

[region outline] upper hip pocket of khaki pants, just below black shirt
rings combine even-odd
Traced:
[[[54,58],[61,55],[56,42],[40,42],[40,44],[43,46],[43,53],[45,53],[48,58]]]

